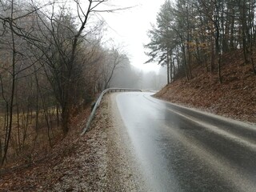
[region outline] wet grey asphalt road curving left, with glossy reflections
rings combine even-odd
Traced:
[[[256,127],[150,93],[116,102],[152,191],[256,191]]]

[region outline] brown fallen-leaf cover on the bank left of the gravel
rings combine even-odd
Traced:
[[[56,189],[68,191],[70,188],[62,190],[59,186],[56,186],[56,189],[52,189],[52,187],[54,184],[62,182],[64,178],[69,178],[71,182],[78,182],[77,178],[87,178],[91,173],[87,167],[88,162],[91,162],[97,149],[91,150],[90,143],[87,143],[90,142],[88,140],[90,134],[85,138],[79,138],[79,136],[89,115],[90,107],[80,110],[80,113],[71,119],[69,133],[65,138],[56,138],[58,141],[44,158],[38,158],[37,161],[30,164],[23,163],[22,166],[6,167],[0,170],[0,191],[56,191]],[[98,134],[98,131],[95,130],[94,134]],[[95,138],[98,139],[96,136]],[[87,153],[90,153],[90,156],[85,156]],[[42,151],[41,154],[43,154]],[[94,165],[95,163],[92,162],[92,166]],[[87,171],[86,174],[84,169]],[[98,167],[94,169],[97,170]],[[70,173],[74,175],[69,177]],[[79,178],[80,176],[81,178]],[[74,180],[74,178],[76,179]],[[89,184],[91,182],[90,180]],[[82,182],[78,183],[83,184]],[[62,187],[66,187],[66,184],[68,183],[62,182]]]

